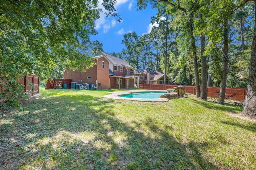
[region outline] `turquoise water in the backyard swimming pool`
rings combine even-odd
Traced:
[[[121,94],[120,97],[124,98],[141,98],[141,99],[157,99],[166,92],[138,92],[130,94]]]

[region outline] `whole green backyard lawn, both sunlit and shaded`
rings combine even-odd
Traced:
[[[256,122],[241,106],[136,102],[111,90],[44,90],[0,117],[0,169],[255,169]]]

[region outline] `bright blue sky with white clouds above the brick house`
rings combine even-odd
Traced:
[[[100,4],[101,2],[102,0],[100,0]],[[106,18],[103,13],[100,14],[100,19],[96,20],[95,29],[98,34],[91,35],[90,39],[100,41],[106,53],[118,53],[125,48],[121,44],[124,34],[135,31],[138,35],[142,35],[150,32],[153,27],[150,21],[152,16],[156,16],[157,9],[148,6],[146,10],[137,11],[136,2],[133,0],[117,0],[115,8],[122,18],[120,23],[117,18]]]

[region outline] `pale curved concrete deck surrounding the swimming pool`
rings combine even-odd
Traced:
[[[110,92],[112,94],[105,95],[104,97],[110,98],[110,99],[133,100],[133,101],[141,101],[141,102],[168,102],[169,101],[167,98],[142,99],[142,98],[124,98],[124,97],[118,96],[121,94],[130,94],[130,93],[136,93],[136,92],[166,92],[166,90],[124,90],[124,91]]]

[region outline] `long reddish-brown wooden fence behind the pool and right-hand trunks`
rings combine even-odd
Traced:
[[[180,85],[139,84],[139,88],[148,89],[148,90],[167,90],[168,88],[174,88],[177,86],[180,86]],[[185,86],[185,90],[186,90],[186,93],[196,94],[195,86]],[[225,97],[227,99],[238,100],[238,101],[244,102],[245,94],[246,94],[246,88],[226,88]],[[207,87],[207,97],[219,98],[219,96],[220,96],[220,87]]]

